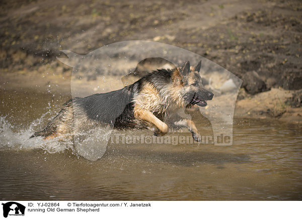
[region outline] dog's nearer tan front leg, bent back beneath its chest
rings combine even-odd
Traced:
[[[137,119],[141,119],[157,127],[158,130],[154,132],[156,136],[163,136],[169,131],[168,125],[148,110],[137,110],[134,116]]]

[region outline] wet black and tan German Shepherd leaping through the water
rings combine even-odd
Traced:
[[[117,91],[70,99],[42,131],[31,137],[72,134],[87,125],[100,124],[109,124],[117,129],[155,128],[154,135],[162,136],[168,132],[169,124],[188,128],[193,139],[200,141],[193,121],[180,117],[169,121],[177,110],[195,104],[204,107],[206,101],[213,98],[214,95],[202,85],[200,67],[201,61],[190,70],[187,61],[182,67],[150,72]],[[168,124],[164,118],[168,118]]]

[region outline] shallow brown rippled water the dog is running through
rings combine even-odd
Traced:
[[[236,120],[232,146],[110,143],[101,159],[89,161],[77,155],[71,141],[28,140],[66,98],[2,92],[3,200],[302,199],[302,129],[297,126]],[[206,122],[197,127],[211,134]]]

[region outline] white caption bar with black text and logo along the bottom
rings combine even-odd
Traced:
[[[2,201],[20,218],[298,218],[299,201]]]

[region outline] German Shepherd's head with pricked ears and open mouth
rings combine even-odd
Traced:
[[[188,105],[198,105],[204,107],[207,105],[207,100],[212,100],[214,94],[206,90],[202,84],[199,75],[201,61],[190,69],[190,62],[187,61],[182,67],[179,68],[180,75],[182,76],[182,96]]]

